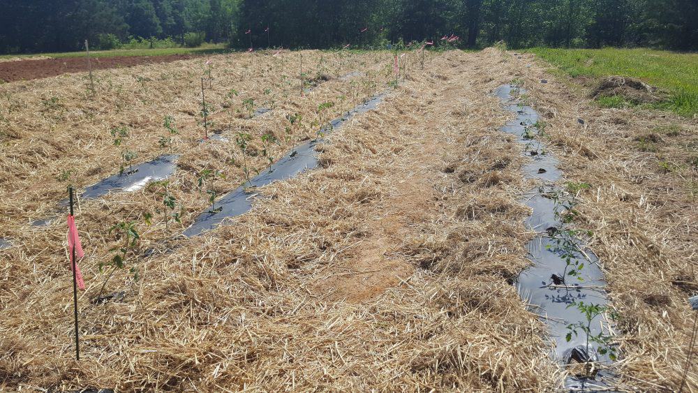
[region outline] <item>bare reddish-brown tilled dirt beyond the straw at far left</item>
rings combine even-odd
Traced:
[[[165,56],[120,56],[94,57],[91,59],[93,70],[106,68],[133,67],[140,64],[168,63],[170,61],[193,59],[191,54],[168,54]],[[85,57],[64,57],[59,59],[3,61],[0,63],[0,80],[15,82],[52,77],[64,73],[87,72]]]

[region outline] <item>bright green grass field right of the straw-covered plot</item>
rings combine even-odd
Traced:
[[[669,91],[669,100],[658,106],[688,117],[698,115],[698,54],[648,49],[528,50],[572,77],[623,75],[637,77]],[[620,104],[603,102],[602,105]]]

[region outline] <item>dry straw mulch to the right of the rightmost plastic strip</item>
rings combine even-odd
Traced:
[[[591,186],[575,225],[593,230],[620,313],[618,372],[641,391],[678,390],[698,292],[698,121],[601,109],[571,80],[541,83],[547,66],[530,55],[504,65],[544,115],[565,177]],[[684,391],[698,392],[695,363]]]

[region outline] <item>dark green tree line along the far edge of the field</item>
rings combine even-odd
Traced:
[[[461,47],[698,49],[697,0],[0,0],[0,51],[110,49],[133,37],[231,47],[377,47],[459,36]]]

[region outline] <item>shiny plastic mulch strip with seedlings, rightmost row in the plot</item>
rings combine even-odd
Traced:
[[[596,343],[586,343],[586,334],[572,334],[570,324],[584,323],[586,314],[577,308],[579,302],[607,306],[607,293],[604,290],[604,275],[595,253],[588,249],[577,237],[577,232],[564,229],[560,218],[568,198],[563,190],[554,184],[562,177],[558,160],[547,149],[540,138],[537,112],[528,105],[517,103],[517,94],[525,91],[507,84],[495,90],[505,107],[517,114],[517,118],[507,122],[501,131],[517,136],[517,142],[525,146],[523,156],[530,162],[523,165],[526,179],[542,183],[523,195],[524,205],[533,210],[526,218],[525,225],[538,235],[528,242],[528,259],[533,265],[521,272],[516,282],[521,298],[532,305],[549,327],[549,336],[554,341],[551,355],[562,364],[596,362],[607,366],[612,363],[609,354],[601,355]],[[584,268],[577,276],[565,276],[568,260],[579,260]],[[610,334],[608,322],[602,315],[594,316],[589,325],[589,334]],[[606,371],[598,371],[586,378],[569,377],[565,380],[568,388],[598,387],[607,389],[613,376]]]

